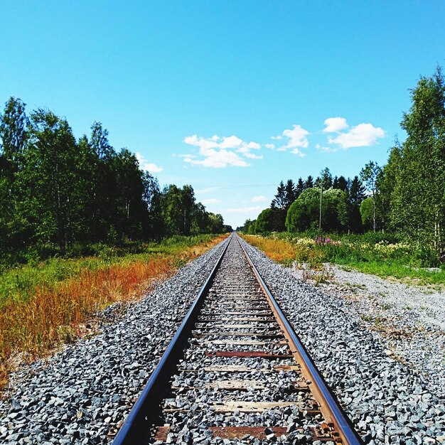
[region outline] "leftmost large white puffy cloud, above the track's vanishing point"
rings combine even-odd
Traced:
[[[246,142],[235,135],[220,137],[215,134],[205,138],[193,134],[186,136],[184,143],[198,147],[199,154],[203,156],[201,159],[194,159],[193,156],[184,157],[185,162],[195,165],[210,168],[247,167],[250,163],[243,158],[262,159],[262,155],[252,153],[252,150],[261,149],[257,142]]]

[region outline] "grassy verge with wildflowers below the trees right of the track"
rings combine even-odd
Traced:
[[[243,235],[250,244],[277,262],[309,264],[322,270],[323,262],[339,264],[366,274],[393,278],[408,284],[443,287],[445,268],[429,270],[431,252],[381,234],[333,235],[312,238],[305,234],[272,234],[267,237]]]

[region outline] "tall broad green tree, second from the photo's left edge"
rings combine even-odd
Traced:
[[[79,181],[78,151],[66,119],[38,109],[31,114],[26,162],[20,174],[23,213],[36,226],[36,240],[64,250],[74,240]]]

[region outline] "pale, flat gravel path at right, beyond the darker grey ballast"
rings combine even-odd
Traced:
[[[429,392],[444,399],[445,291],[328,268],[332,279],[321,284],[323,293],[347,299],[363,325],[379,333],[386,353],[422,374]]]

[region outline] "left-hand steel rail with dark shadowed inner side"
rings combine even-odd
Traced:
[[[213,278],[220,266],[227,247],[232,241],[232,237],[233,235],[226,241],[224,250],[220,254],[212,272],[210,272],[198,295],[195,297],[191,308],[188,310],[181,326],[179,326],[178,331],[163,353],[158,365],[151,373],[144,390],[142,390],[141,395],[139,395],[134,407],[114,438],[113,445],[148,443],[151,427],[150,421],[156,415],[156,412],[160,411],[159,402],[163,395],[163,389],[166,386],[165,383],[171,376],[171,370],[173,370],[174,365],[176,365],[177,359],[183,351],[183,345],[190,336],[191,328],[193,327],[193,323],[195,322],[203,303],[203,296],[205,296],[208,289],[210,289]]]

